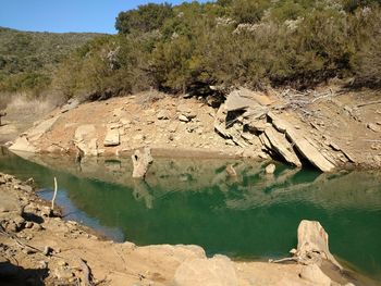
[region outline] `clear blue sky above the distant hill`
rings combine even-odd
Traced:
[[[36,32],[115,33],[119,12],[160,0],[0,0],[0,26]],[[167,0],[172,4],[182,0]]]

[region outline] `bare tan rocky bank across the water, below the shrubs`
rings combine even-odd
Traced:
[[[380,135],[369,128],[381,124],[381,111],[369,104],[359,110],[341,103],[360,100],[351,94],[340,94],[342,101],[335,94],[317,95],[303,95],[302,100],[287,90],[266,96],[241,88],[218,108],[194,98],[165,96],[147,108],[143,100],[147,95],[76,104],[56,110],[10,149],[121,156],[150,147],[272,157],[296,167],[311,164],[322,172],[348,165],[381,167]],[[370,120],[376,123],[366,124]]]

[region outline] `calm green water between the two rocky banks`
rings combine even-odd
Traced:
[[[130,160],[97,159],[82,166],[69,158],[0,152],[0,172],[33,176],[66,217],[115,240],[137,245],[196,244],[208,254],[236,259],[288,256],[303,219],[318,220],[340,260],[381,281],[381,173],[320,174],[278,165],[274,176],[253,161],[156,159],[146,183],[131,179]],[[237,179],[225,175],[233,163]],[[44,166],[45,165],[45,166]]]

